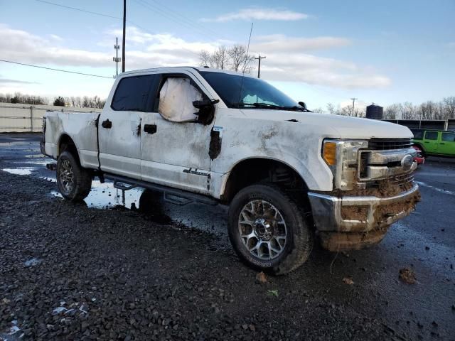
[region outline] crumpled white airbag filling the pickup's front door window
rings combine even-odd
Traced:
[[[170,77],[159,92],[158,111],[169,121],[188,122],[197,119],[193,101],[202,100],[202,94],[191,85],[188,78]]]

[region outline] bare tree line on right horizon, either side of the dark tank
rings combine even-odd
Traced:
[[[365,107],[336,107],[332,103],[326,105],[326,110],[319,107],[314,112],[328,112],[330,114],[366,117]],[[384,108],[383,119],[455,119],[455,96],[444,97],[439,102],[427,101],[422,104],[411,102],[394,103]]]

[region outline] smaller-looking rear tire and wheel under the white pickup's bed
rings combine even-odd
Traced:
[[[56,178],[61,195],[73,202],[82,201],[92,188],[90,171],[82,168],[69,151],[64,151],[58,157]]]

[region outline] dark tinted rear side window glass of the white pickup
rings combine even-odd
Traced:
[[[132,112],[153,111],[157,81],[156,75],[123,78],[112,98],[112,109]]]

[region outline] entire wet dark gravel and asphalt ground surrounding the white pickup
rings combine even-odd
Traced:
[[[422,202],[378,246],[257,283],[225,207],[137,212],[142,190],[99,181],[65,202],[38,140],[0,134],[0,341],[455,340],[455,159],[419,167]]]

